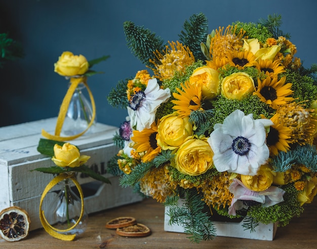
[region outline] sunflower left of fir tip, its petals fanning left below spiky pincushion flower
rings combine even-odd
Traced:
[[[176,100],[172,100],[172,103],[175,104],[173,109],[177,110],[178,115],[183,118],[190,115],[191,111],[196,111],[202,108],[202,88],[197,84],[181,84],[182,90],[177,88],[179,92],[173,93],[173,96]]]

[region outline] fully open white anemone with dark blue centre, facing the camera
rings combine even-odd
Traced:
[[[267,162],[266,129],[273,125],[270,119],[253,119],[235,110],[216,123],[208,143],[214,152],[213,161],[219,172],[254,176]]]

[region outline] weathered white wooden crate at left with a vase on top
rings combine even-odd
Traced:
[[[30,171],[55,165],[50,157],[37,151],[39,139],[43,138],[42,129],[53,134],[55,125],[56,118],[49,118],[0,128],[0,210],[13,205],[25,209],[31,219],[31,230],[42,227],[38,217],[39,200],[53,175]],[[90,192],[84,198],[87,213],[141,201],[139,194],[118,185],[118,177],[106,173],[107,161],[118,151],[112,142],[117,128],[96,123],[93,131],[70,141],[82,154],[91,156],[86,163],[88,167],[111,181],[110,185],[77,175],[84,192]],[[50,192],[46,198],[55,194]]]

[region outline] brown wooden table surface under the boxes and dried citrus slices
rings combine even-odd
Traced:
[[[317,248],[317,198],[305,206],[300,218],[294,218],[286,227],[279,227],[273,241],[216,237],[199,244],[191,243],[186,235],[164,231],[164,206],[153,199],[145,199],[96,214],[91,214],[88,228],[74,241],[62,241],[43,229],[31,231],[17,242],[0,239],[0,248]],[[132,216],[148,226],[147,237],[122,237],[115,230],[105,228],[107,221],[120,216]]]

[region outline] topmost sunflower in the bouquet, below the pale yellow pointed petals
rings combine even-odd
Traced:
[[[229,64],[238,69],[256,65],[256,57],[249,51],[231,51],[231,53],[227,53],[227,58]]]

